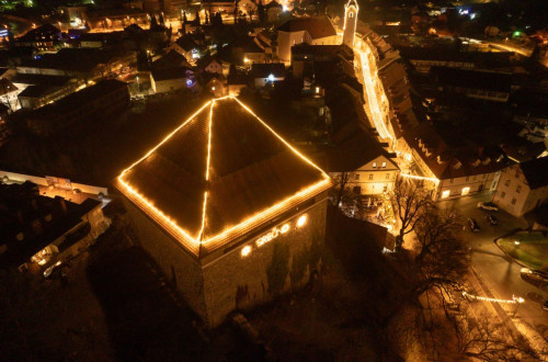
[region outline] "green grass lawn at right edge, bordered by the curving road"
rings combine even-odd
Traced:
[[[540,233],[521,231],[498,241],[512,258],[534,270],[548,270],[548,238]]]

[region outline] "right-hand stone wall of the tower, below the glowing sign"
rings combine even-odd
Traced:
[[[296,225],[297,219],[304,214],[307,215],[307,223],[299,228]],[[246,309],[269,302],[278,293],[302,286],[308,281],[310,268],[305,267],[304,273],[298,269],[302,269],[304,263],[308,264],[310,260],[312,239],[316,238],[320,246],[323,245],[326,214],[327,199],[273,227],[279,228],[288,223],[290,229],[286,234],[281,234],[267,244],[256,247],[256,239],[261,237],[259,235],[204,265],[204,294],[209,326],[219,325],[237,308]],[[264,234],[273,228],[265,230]],[[241,250],[246,246],[251,246],[252,251],[242,257]],[[276,257],[273,257],[275,252]],[[287,267],[284,286],[275,291],[271,291],[272,285],[269,285],[269,281],[272,276],[269,276],[267,272],[269,268],[271,270],[276,268],[273,262],[278,263],[277,268],[281,262]],[[298,280],[295,280],[296,278]]]

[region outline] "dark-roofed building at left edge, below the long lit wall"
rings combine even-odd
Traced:
[[[100,201],[75,204],[42,196],[31,182],[0,184],[0,268],[47,276],[92,245],[109,225]]]

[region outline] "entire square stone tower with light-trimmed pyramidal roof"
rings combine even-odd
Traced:
[[[116,186],[140,245],[209,327],[317,268],[297,256],[323,242],[331,179],[236,98],[207,102]]]

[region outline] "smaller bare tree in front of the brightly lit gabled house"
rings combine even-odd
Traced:
[[[403,244],[403,237],[414,230],[423,212],[432,204],[432,199],[422,183],[398,178],[390,193],[390,203],[401,224],[400,231],[396,237],[396,250],[399,251]]]

